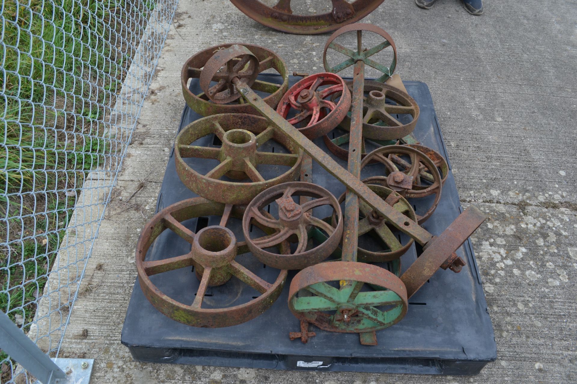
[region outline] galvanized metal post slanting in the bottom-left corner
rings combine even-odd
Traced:
[[[0,311],[0,348],[43,384],[53,384],[66,374],[38,345]]]

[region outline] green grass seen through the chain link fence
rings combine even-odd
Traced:
[[[0,310],[25,330],[76,202],[70,191],[114,166],[106,121],[155,6],[54,3],[0,0]]]

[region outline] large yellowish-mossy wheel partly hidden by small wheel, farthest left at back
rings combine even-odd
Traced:
[[[194,112],[197,112],[199,115],[202,116],[211,116],[216,115],[218,113],[251,113],[252,115],[260,115],[249,104],[245,104],[242,97],[238,97],[239,94],[233,89],[230,88],[231,83],[231,75],[234,73],[240,74],[241,78],[248,76],[249,79],[252,79],[254,76],[254,63],[245,63],[245,67],[238,67],[236,72],[234,67],[241,62],[242,55],[239,55],[238,58],[233,58],[231,60],[232,68],[229,70],[227,66],[224,66],[222,69],[218,68],[216,70],[212,69],[212,77],[209,79],[208,89],[214,89],[216,85],[218,85],[220,92],[216,93],[219,95],[218,97],[230,96],[232,98],[234,96],[234,100],[229,101],[229,104],[216,104],[215,102],[211,101],[211,98],[208,97],[207,93],[202,92],[200,94],[194,94],[188,88],[188,82],[190,79],[200,78],[200,75],[204,69],[204,66],[207,64],[208,60],[212,58],[213,55],[218,53],[218,51],[222,51],[226,48],[229,48],[233,45],[239,45],[244,47],[250,51],[254,57],[258,60],[258,68],[256,70],[256,74],[263,73],[269,69],[273,69],[277,71],[282,79],[281,84],[276,84],[272,82],[266,82],[262,80],[254,80],[250,87],[256,92],[262,92],[263,100],[272,108],[275,108],[278,104],[280,98],[282,98],[283,94],[288,89],[288,71],[286,69],[286,64],[284,64],[283,59],[281,59],[275,52],[268,50],[264,47],[259,47],[258,45],[252,44],[222,44],[222,45],[215,45],[214,47],[207,48],[204,51],[200,51],[188,60],[182,67],[181,72],[181,83],[182,83],[182,94],[186,100],[186,104],[190,108],[193,109]],[[245,55],[248,55],[245,52]],[[238,60],[234,60],[238,59]],[[250,62],[250,60],[249,60]],[[248,65],[247,65],[248,64]],[[228,73],[228,74],[227,74]],[[205,76],[209,76],[210,74],[207,73]],[[249,76],[250,75],[250,76]],[[226,85],[224,84],[226,82]],[[232,89],[232,93],[231,92]],[[228,94],[227,94],[228,92]],[[216,97],[214,94],[211,97]],[[231,104],[233,103],[233,104]]]

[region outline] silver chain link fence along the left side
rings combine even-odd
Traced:
[[[177,2],[0,0],[0,309],[51,357]]]

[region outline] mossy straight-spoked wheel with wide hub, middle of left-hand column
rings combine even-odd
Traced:
[[[195,140],[212,134],[222,141],[222,146],[191,145]],[[290,153],[258,151],[258,147],[269,139],[279,142]],[[174,151],[182,183],[194,193],[219,203],[247,204],[272,185],[294,181],[300,176],[302,151],[267,119],[254,115],[226,113],[193,121],[178,134]],[[220,164],[203,175],[186,164],[184,158],[216,159]],[[290,169],[265,180],[256,168],[260,164],[282,165]],[[219,180],[222,176],[239,181]],[[250,179],[250,183],[242,182],[246,179]]]

